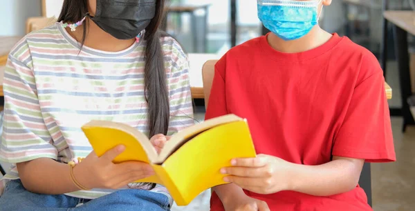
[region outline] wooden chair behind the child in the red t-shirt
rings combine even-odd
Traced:
[[[213,77],[214,77],[214,65],[216,64],[216,62],[217,60],[206,61],[206,63],[203,65],[203,68],[202,68],[203,92],[205,94],[205,107],[206,108],[208,108],[210,90],[212,89],[212,82],[213,82]],[[387,94],[387,98],[391,99],[392,90],[387,84],[386,84],[385,91]],[[365,190],[369,205],[372,205],[370,163],[365,163],[365,165],[363,166],[362,174],[360,174],[359,185],[360,187],[363,188],[363,190]]]

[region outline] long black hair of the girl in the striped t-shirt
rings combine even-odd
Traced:
[[[148,104],[147,122],[149,137],[155,134],[167,134],[169,128],[170,106],[169,93],[167,90],[167,81],[164,66],[163,50],[160,43],[160,37],[167,37],[165,32],[158,30],[164,17],[165,0],[156,1],[156,14],[151,19],[149,26],[145,28],[144,41],[145,47],[145,99]],[[59,15],[58,22],[76,23],[80,21],[88,11],[87,0],[64,0],[62,12]],[[84,45],[87,34],[87,26],[83,24],[84,32],[82,41]],[[81,48],[82,48],[81,46]],[[154,188],[154,184],[151,185]]]

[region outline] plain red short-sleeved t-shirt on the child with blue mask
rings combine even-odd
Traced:
[[[278,52],[267,36],[232,48],[215,67],[206,119],[246,118],[258,154],[319,165],[332,156],[395,161],[385,79],[376,57],[347,37]],[[246,193],[270,210],[371,210],[359,186],[331,197]],[[213,194],[212,210],[223,210]]]

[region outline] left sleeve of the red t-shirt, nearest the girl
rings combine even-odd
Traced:
[[[206,120],[228,114],[226,106],[225,68],[226,55],[214,67],[212,89],[210,90],[208,109],[205,114]]]

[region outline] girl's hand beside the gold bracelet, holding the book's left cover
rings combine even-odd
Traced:
[[[128,183],[150,177],[154,170],[147,163],[127,161],[115,164],[118,154],[124,152],[125,147],[118,145],[98,157],[91,152],[81,163],[73,168],[75,179],[86,188],[118,189]],[[69,175],[68,175],[69,177]]]

